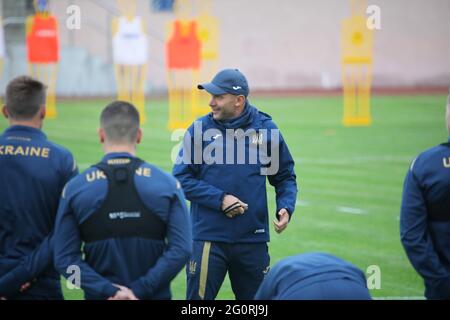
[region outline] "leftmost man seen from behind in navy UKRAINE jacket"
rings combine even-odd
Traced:
[[[6,89],[0,136],[0,297],[62,299],[51,234],[61,191],[78,173],[72,154],[40,130],[45,86],[29,77]]]

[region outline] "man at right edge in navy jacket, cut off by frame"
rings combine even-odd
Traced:
[[[450,96],[447,101],[450,133]],[[421,153],[405,178],[401,241],[425,282],[425,297],[450,299],[450,139]]]

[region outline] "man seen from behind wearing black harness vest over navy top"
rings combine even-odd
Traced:
[[[106,155],[63,191],[56,268],[73,284],[79,271],[86,299],[170,299],[170,281],[192,251],[181,186],[134,156],[142,133],[133,105],[108,105],[99,135]]]

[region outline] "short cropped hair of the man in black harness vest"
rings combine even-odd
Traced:
[[[111,142],[134,143],[139,130],[139,112],[131,103],[111,102],[100,115],[100,126]]]

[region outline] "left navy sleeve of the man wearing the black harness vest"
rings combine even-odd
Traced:
[[[70,205],[70,196],[66,198],[64,192],[59,203],[53,243],[55,267],[61,275],[70,277],[72,274],[67,272],[68,267],[76,266],[80,270],[80,284],[84,291],[105,299],[115,295],[118,289],[82,260],[78,222]]]

